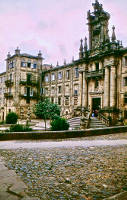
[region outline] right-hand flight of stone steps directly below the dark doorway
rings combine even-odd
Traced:
[[[107,126],[100,121],[97,117],[91,117],[90,118],[90,125],[89,128],[106,128]]]

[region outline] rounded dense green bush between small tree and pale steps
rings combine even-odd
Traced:
[[[51,122],[52,131],[62,131],[68,129],[69,129],[69,123],[64,118],[59,117]]]

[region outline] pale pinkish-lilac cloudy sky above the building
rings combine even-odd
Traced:
[[[6,70],[7,53],[37,55],[56,66],[78,59],[80,39],[88,37],[87,11],[95,0],[0,0],[0,72]],[[110,13],[109,30],[127,46],[127,1],[100,0]]]

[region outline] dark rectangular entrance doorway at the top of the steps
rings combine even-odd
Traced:
[[[93,116],[98,115],[98,111],[101,107],[101,98],[92,98],[92,113]]]

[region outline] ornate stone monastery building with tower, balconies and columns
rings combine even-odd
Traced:
[[[127,48],[116,39],[115,27],[109,36],[109,13],[97,0],[88,11],[89,38],[81,39],[79,59],[52,67],[37,56],[7,55],[6,72],[0,74],[0,118],[10,111],[26,119],[33,106],[46,96],[59,104],[67,118],[86,110],[100,110],[105,116],[127,118]],[[89,43],[89,44],[88,44]]]

